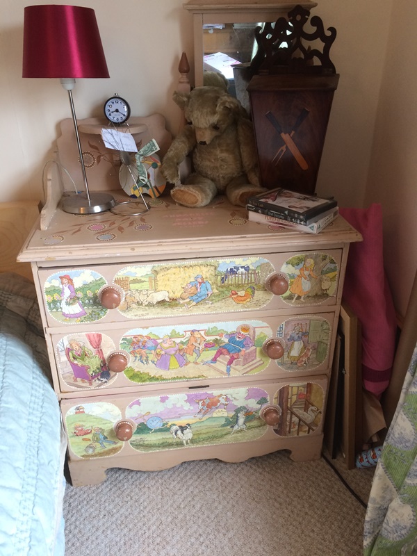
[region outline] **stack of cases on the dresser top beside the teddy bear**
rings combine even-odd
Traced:
[[[247,199],[249,220],[276,224],[307,234],[318,234],[338,215],[335,199],[323,199],[284,188],[272,189]]]

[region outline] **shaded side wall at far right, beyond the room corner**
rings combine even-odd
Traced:
[[[377,106],[366,205],[380,202],[384,260],[400,318],[417,268],[417,4],[396,0]]]

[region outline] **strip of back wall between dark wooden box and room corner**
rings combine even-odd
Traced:
[[[340,74],[323,149],[317,193],[341,206],[363,206],[379,88],[384,70],[391,1],[318,0],[313,12],[334,26],[330,51]]]

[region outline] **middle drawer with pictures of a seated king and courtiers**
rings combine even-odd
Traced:
[[[229,316],[232,318],[233,316]],[[224,317],[223,317],[224,318]],[[338,308],[49,329],[60,392],[325,373]],[[129,326],[130,325],[130,326]]]

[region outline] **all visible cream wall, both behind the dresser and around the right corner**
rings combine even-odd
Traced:
[[[0,202],[42,198],[42,168],[51,158],[57,122],[70,116],[58,80],[22,79],[24,6],[2,0],[0,19]],[[68,1],[55,0],[55,3]],[[95,8],[111,79],[79,80],[79,119],[101,115],[118,92],[133,115],[160,112],[175,133],[171,100],[181,52],[192,61],[193,27],[183,0],[73,1]],[[416,270],[415,0],[318,0],[313,13],[338,32],[331,57],[341,75],[318,176],[319,195],[341,206],[382,202],[386,263],[404,314]],[[395,193],[395,197],[393,197]]]

